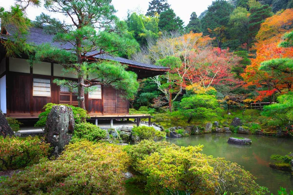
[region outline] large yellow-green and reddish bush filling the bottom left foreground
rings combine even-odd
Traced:
[[[0,183],[5,195],[123,195],[129,166],[121,147],[81,141]]]

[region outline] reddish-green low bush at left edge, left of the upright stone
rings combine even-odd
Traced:
[[[0,171],[38,163],[48,154],[49,144],[42,142],[38,137],[27,137],[23,140],[19,137],[0,136]]]

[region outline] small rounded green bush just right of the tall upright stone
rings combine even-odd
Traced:
[[[74,127],[72,142],[86,139],[88,141],[99,141],[106,137],[106,131],[89,122],[78,123]]]

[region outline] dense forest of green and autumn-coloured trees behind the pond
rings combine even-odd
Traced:
[[[292,0],[215,0],[186,26],[167,0],[151,0],[146,15],[129,11],[127,30],[140,44],[129,58],[170,68],[141,80],[131,107],[184,110],[190,122],[219,108],[244,113],[254,102],[279,102],[293,82],[292,8]]]

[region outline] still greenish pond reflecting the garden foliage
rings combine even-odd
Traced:
[[[251,139],[252,144],[231,145],[227,143],[229,137],[247,137]],[[205,134],[166,140],[179,146],[203,144],[203,154],[225,157],[240,164],[257,178],[256,182],[259,185],[268,187],[274,195],[277,195],[280,186],[293,190],[291,173],[269,167],[272,154],[286,155],[293,152],[293,139],[241,134]]]

